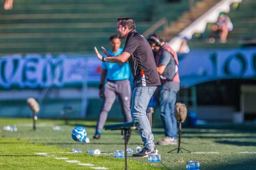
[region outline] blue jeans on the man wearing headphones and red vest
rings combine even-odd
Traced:
[[[165,136],[177,140],[177,121],[175,119],[176,91],[162,89],[160,92],[160,116]]]

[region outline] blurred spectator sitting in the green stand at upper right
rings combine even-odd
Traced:
[[[210,34],[209,42],[214,43],[215,39],[213,35],[218,32],[220,36],[220,42],[226,43],[228,32],[233,30],[233,24],[228,16],[224,13],[220,13],[220,16],[214,26],[212,26],[212,32]]]

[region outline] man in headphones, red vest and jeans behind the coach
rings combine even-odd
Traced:
[[[177,144],[177,121],[175,119],[176,93],[179,91],[178,58],[176,52],[158,34],[147,39],[152,50],[157,51],[155,62],[160,75],[160,116],[165,136],[159,145]]]

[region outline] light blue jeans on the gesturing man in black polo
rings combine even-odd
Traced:
[[[153,141],[154,136],[151,132],[149,120],[147,119],[146,109],[156,88],[156,86],[135,87],[131,103],[131,117],[133,121],[139,122],[139,133],[144,143],[144,148],[149,150],[155,147],[155,143]]]

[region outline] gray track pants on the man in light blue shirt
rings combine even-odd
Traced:
[[[101,131],[107,120],[109,113],[116,96],[121,104],[122,114],[124,115],[124,122],[131,122],[131,85],[128,79],[122,81],[107,81],[104,87],[104,103],[99,114],[96,131]]]

